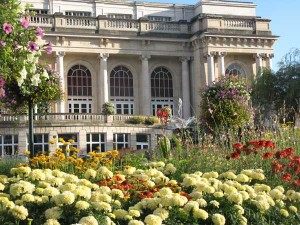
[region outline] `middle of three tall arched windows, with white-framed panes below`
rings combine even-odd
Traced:
[[[117,114],[133,114],[134,93],[131,71],[125,66],[117,66],[110,73],[110,97]]]

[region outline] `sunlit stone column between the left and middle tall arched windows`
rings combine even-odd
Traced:
[[[108,76],[107,76],[107,59],[109,54],[101,53],[100,57],[100,81],[102,83],[101,102],[104,104],[109,101],[108,98]],[[101,86],[100,86],[101,87]]]

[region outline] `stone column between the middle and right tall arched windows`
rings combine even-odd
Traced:
[[[144,116],[151,115],[151,85],[149,76],[149,65],[148,60],[149,55],[142,55],[140,57],[142,60],[142,76],[140,77],[140,104],[141,113]]]

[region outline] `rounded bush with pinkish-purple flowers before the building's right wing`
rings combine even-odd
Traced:
[[[249,122],[250,89],[236,77],[223,77],[202,92],[201,119],[209,127],[231,129]]]

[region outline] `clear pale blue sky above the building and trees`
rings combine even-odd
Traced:
[[[143,1],[143,0],[142,0]],[[199,0],[144,0],[149,2],[195,4]],[[291,48],[300,49],[300,0],[240,0],[257,5],[256,15],[271,19],[273,35],[280,36],[274,47],[273,69]]]

